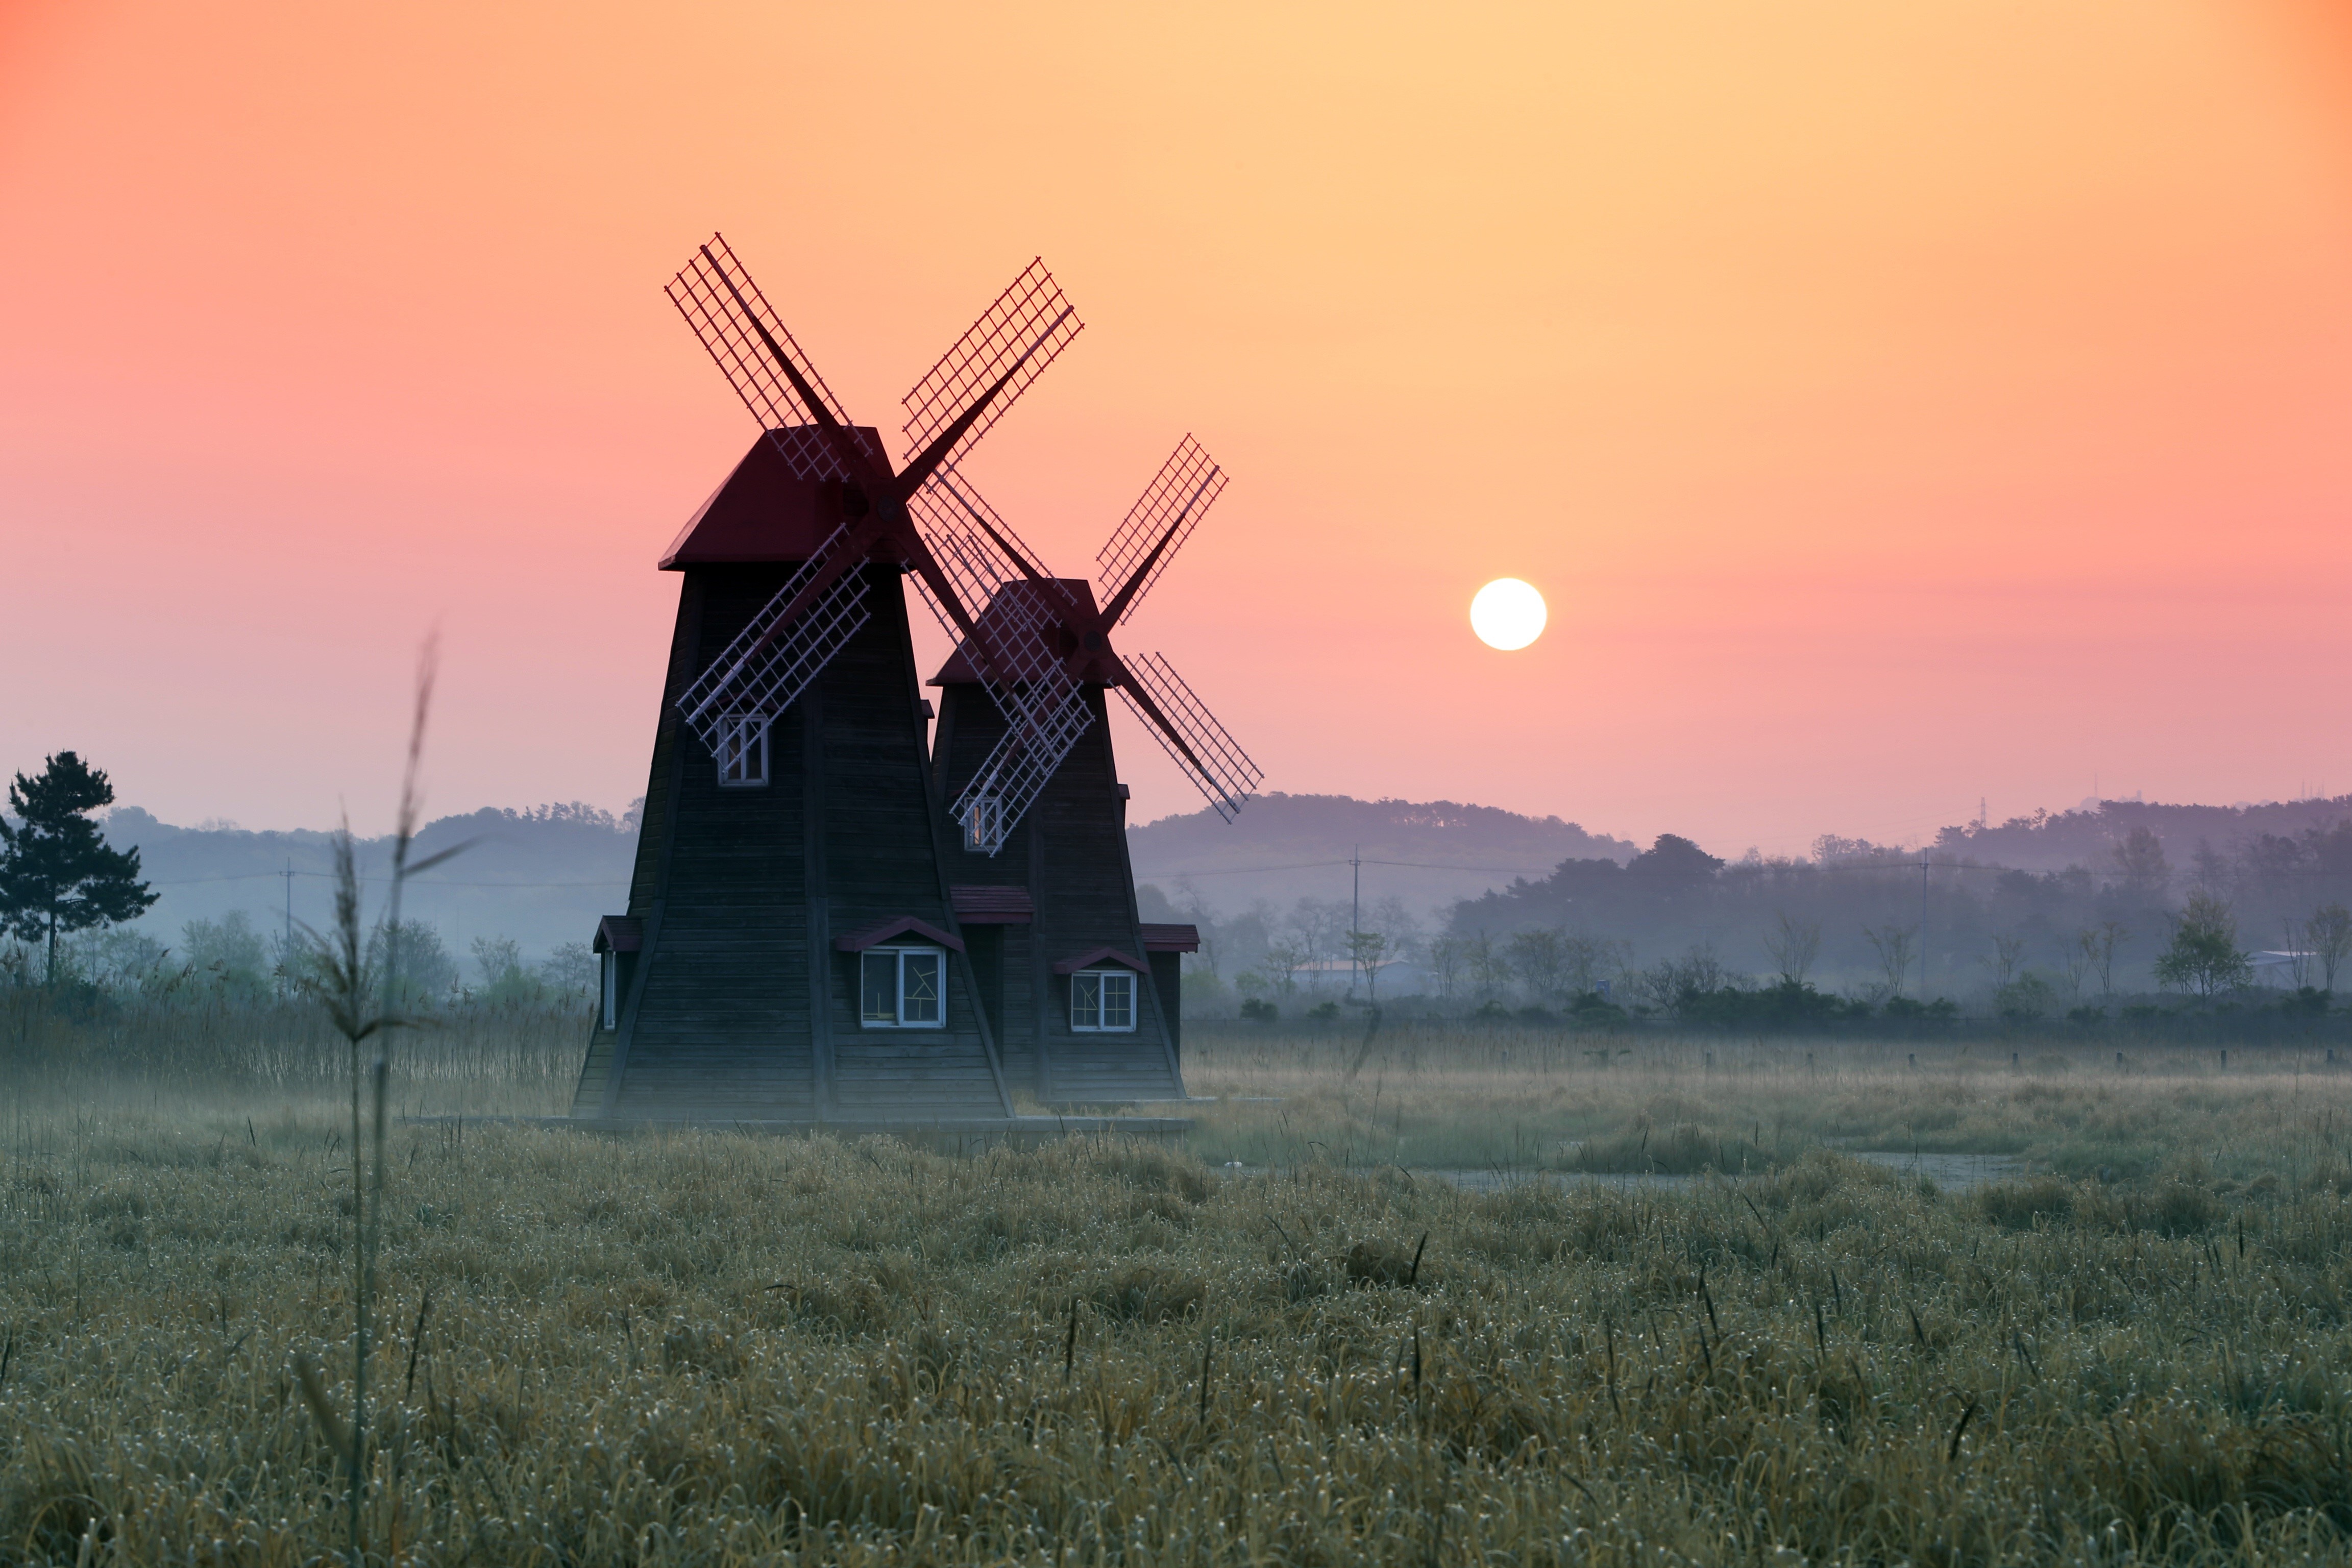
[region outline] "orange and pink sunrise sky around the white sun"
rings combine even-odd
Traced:
[[[1127,644],[1272,790],[1719,853],[2352,790],[2333,14],[0,0],[0,764],[381,827],[440,621],[437,811],[642,792],[724,228],[891,430],[1044,254],[1089,331],[974,473],[1080,571],[1207,442]]]

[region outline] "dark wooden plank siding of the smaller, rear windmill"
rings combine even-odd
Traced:
[[[1054,780],[1014,825],[1004,849],[948,844],[948,882],[1023,886],[1035,924],[1004,926],[1004,1070],[1047,1105],[1181,1100],[1176,1041],[1157,999],[1157,966],[1136,976],[1136,1030],[1120,1034],[1070,1027],[1070,980],[1054,964],[1094,947],[1143,959],[1136,879],[1127,860],[1127,802],[1120,799],[1105,689],[1087,686],[1094,722],[1054,771]],[[931,743],[938,797],[955,804],[1004,733],[1004,715],[976,684],[941,684],[941,719]],[[1148,961],[1148,959],[1145,959]]]

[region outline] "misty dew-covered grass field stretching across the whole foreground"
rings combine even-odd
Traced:
[[[402,1048],[405,1110],[569,1088]],[[0,1081],[0,1561],[343,1549],[350,1112],[282,1051]],[[1190,1147],[395,1121],[369,1559],[2352,1556],[2324,1060],[1597,1051],[1202,1030]],[[1842,1152],[1910,1147],[2020,1173]]]

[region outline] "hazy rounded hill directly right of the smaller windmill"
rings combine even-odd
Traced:
[[[1637,846],[1557,816],[1451,799],[1261,795],[1232,823],[1202,809],[1129,827],[1127,849],[1136,882],[1190,886],[1209,907],[1230,912],[1256,898],[1345,898],[1345,860],[1357,853],[1367,900],[1397,896],[1432,907],[1515,877],[1543,877],[1562,860],[1630,860]]]

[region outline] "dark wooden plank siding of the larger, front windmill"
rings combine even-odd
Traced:
[[[677,715],[790,571],[684,569],[628,898],[644,947],[619,1030],[590,1032],[574,1114],[1009,1112],[967,969],[950,961],[946,1027],[861,1030],[856,954],[833,950],[898,914],[955,931],[901,574],[861,569],[870,618],[771,722],[764,788],[722,788]]]

